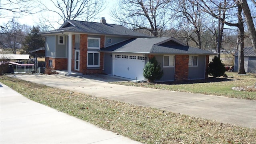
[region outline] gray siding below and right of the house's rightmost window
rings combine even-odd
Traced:
[[[198,56],[198,66],[188,67],[188,80],[204,79],[205,56]]]

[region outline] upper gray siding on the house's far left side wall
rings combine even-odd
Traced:
[[[46,57],[52,57],[55,58],[55,46],[56,46],[56,36],[46,36],[46,51],[45,56]]]

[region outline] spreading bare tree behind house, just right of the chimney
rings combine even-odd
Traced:
[[[133,30],[147,30],[155,37],[161,37],[170,21],[168,3],[171,0],[120,0],[118,8],[112,10],[117,22]]]

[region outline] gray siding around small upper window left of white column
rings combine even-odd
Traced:
[[[67,58],[67,36],[64,36],[64,44],[58,44],[58,36],[56,36],[56,58]]]

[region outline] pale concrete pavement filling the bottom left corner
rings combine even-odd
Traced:
[[[44,106],[0,83],[0,143],[139,144]]]

